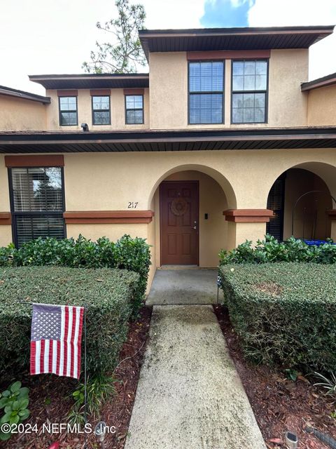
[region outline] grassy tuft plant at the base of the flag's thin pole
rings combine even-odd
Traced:
[[[102,405],[112,396],[116,395],[114,383],[116,379],[108,375],[97,375],[87,379],[87,413],[92,415],[93,419],[99,417],[99,411]],[[84,422],[84,384],[78,384],[78,387],[72,393],[75,401],[68,415],[71,423]]]

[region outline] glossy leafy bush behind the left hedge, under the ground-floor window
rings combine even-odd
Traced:
[[[136,316],[144,300],[151,252],[145,239],[121,237],[116,243],[106,237],[97,242],[79,236],[75,239],[41,237],[15,249],[13,245],[0,248],[0,266],[58,265],[73,268],[121,268],[140,275],[137,292],[134,293],[132,314]]]

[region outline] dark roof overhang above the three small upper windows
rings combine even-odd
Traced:
[[[146,88],[148,73],[29,75],[29,80],[45,89]]]

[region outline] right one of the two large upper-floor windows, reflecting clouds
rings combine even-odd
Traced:
[[[267,60],[232,61],[232,123],[267,121]]]

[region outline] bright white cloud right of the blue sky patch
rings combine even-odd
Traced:
[[[256,0],[248,13],[251,27],[335,23],[335,0]],[[315,43],[309,50],[309,79],[332,72],[336,72],[336,34]]]

